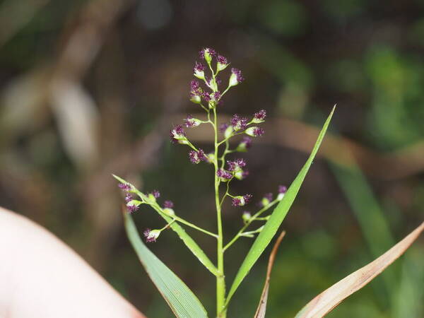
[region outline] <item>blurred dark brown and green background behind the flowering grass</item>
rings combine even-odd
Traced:
[[[191,165],[168,139],[199,113],[188,90],[205,46],[246,78],[221,114],[269,114],[234,192],[259,201],[290,184],[338,105],[282,225],[267,317],[293,317],[423,220],[423,0],[1,1],[0,205],[54,232],[148,317],[172,317],[126,240],[110,174],[159,189],[181,216],[215,228],[210,167]],[[205,150],[207,132],[190,131]],[[225,206],[228,237],[241,213]],[[135,220],[140,230],[163,226],[145,207]],[[213,240],[190,232],[214,259]],[[250,244],[226,254],[229,282]],[[213,276],[175,233],[149,247],[213,315]],[[269,251],[230,317],[253,316]],[[421,239],[329,317],[423,317],[423,251]]]

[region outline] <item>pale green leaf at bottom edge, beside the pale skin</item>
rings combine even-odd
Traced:
[[[148,276],[165,298],[167,304],[170,305],[175,316],[184,318],[208,317],[205,308],[192,290],[144,245],[129,213],[124,212],[124,222],[126,234],[136,250],[141,264],[143,264]]]

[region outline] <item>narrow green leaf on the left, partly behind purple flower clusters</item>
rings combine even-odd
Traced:
[[[122,182],[123,184],[130,184],[129,182],[126,182],[124,179],[122,179],[121,177],[118,177],[117,175],[113,175],[113,177],[117,179],[119,182]],[[141,199],[143,199],[144,201],[148,201],[147,196],[143,194],[143,192],[140,192],[139,190],[137,190],[136,187],[134,187],[132,184],[131,186],[134,188],[134,192],[136,192],[136,194],[140,196]],[[157,207],[155,206],[151,206],[151,207],[154,208],[155,211],[157,211],[159,215],[162,216],[167,221],[167,223],[170,223],[172,221],[172,218],[170,218],[170,216],[165,216],[165,214],[160,213]],[[172,230],[174,230],[177,233],[178,237],[182,240],[182,242],[184,242],[184,244],[189,248],[189,250],[194,254],[194,256],[197,257],[197,259],[199,259],[201,264],[203,264],[206,267],[206,269],[211,271],[213,275],[217,276],[218,269],[216,269],[216,266],[212,263],[211,259],[208,258],[208,256],[205,254],[203,249],[201,249],[199,245],[196,242],[194,242],[192,237],[187,234],[184,228],[182,228],[177,222],[172,223],[170,225],[170,228],[172,228]]]

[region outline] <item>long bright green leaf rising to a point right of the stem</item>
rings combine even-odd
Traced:
[[[273,236],[276,234],[278,228],[280,227],[285,216],[287,215],[290,206],[293,204],[293,201],[295,201],[295,198],[298,195],[300,186],[302,185],[302,182],[305,179],[307,171],[312,165],[312,161],[314,160],[314,157],[317,154],[319,146],[322,143],[322,139],[324,139],[326,129],[329,126],[335,108],[336,106],[334,106],[333,110],[331,110],[331,113],[329,114],[329,117],[326,119],[324,127],[319,133],[317,142],[315,143],[315,146],[312,149],[310,157],[307,159],[305,165],[302,167],[302,170],[300,170],[298,176],[288,188],[283,200],[281,200],[281,202],[274,209],[273,213],[271,214],[271,217],[266,222],[264,229],[259,233],[257,239],[254,241],[252,247],[250,248],[247,257],[240,266],[240,269],[237,272],[237,275],[235,276],[235,279],[231,285],[225,305],[228,305],[228,302],[230,302],[232,295],[234,295],[235,293],[235,290],[237,290],[240,283],[242,283],[243,279],[245,279],[250,269],[252,269],[254,263],[257,261],[257,259],[259,259],[262,252],[264,252],[264,249],[269,245],[269,242],[271,242]]]

